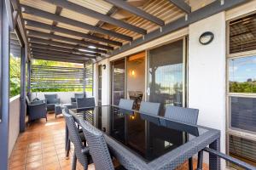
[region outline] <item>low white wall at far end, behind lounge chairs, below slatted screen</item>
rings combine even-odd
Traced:
[[[38,99],[45,99],[44,94],[57,94],[58,98],[61,99],[61,103],[68,104],[68,103],[71,103],[71,98],[74,97],[74,94],[80,94],[80,93],[83,93],[83,92],[38,92],[38,93],[33,92],[31,94],[31,98],[35,99],[37,97]],[[91,97],[91,93],[87,93],[86,96]]]

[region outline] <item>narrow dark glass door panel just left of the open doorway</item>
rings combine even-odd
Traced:
[[[125,59],[112,63],[112,105],[119,105],[125,98]]]

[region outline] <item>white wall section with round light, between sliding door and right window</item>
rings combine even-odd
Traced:
[[[198,39],[205,31],[212,31],[214,40],[201,45]],[[221,130],[222,152],[225,152],[225,65],[225,13],[190,25],[189,107],[200,110],[200,125]]]

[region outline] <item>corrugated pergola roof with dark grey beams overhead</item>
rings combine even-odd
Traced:
[[[86,56],[108,57],[113,49],[183,17],[191,8],[180,1],[20,0],[20,10],[33,58],[81,62]]]

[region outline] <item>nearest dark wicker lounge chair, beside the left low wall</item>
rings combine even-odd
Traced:
[[[47,121],[46,104],[44,100],[30,101],[26,96],[26,113],[28,115],[28,122],[45,118]]]

